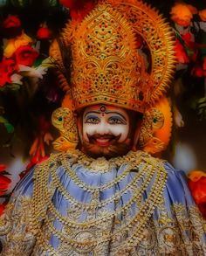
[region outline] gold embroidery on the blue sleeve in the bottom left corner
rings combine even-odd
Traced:
[[[22,256],[32,252],[37,233],[33,225],[32,205],[30,197],[17,197],[8,204],[0,226],[0,235],[3,236],[1,255]]]

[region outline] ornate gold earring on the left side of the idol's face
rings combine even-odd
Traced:
[[[58,128],[60,136],[53,142],[53,148],[58,151],[67,151],[76,149],[79,136],[77,129],[77,120],[71,109],[68,107],[59,107],[52,113],[52,125]]]

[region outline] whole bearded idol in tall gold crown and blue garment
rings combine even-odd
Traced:
[[[101,1],[65,26],[51,55],[67,88],[52,114],[60,152],[18,183],[2,255],[206,255],[183,172],[148,154],[171,126],[168,24],[139,0]]]

